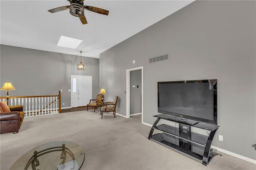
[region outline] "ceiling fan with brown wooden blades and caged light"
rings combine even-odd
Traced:
[[[54,9],[51,9],[48,11],[51,13],[54,13],[54,12],[60,12],[60,11],[69,9],[70,14],[72,16],[79,17],[82,24],[87,24],[87,20],[84,16],[84,9],[92,11],[92,12],[96,12],[99,14],[103,14],[103,15],[108,15],[108,12],[109,12],[108,10],[104,10],[104,9],[97,8],[94,6],[84,5],[84,0],[67,0],[67,1],[70,2],[70,5],[61,6],[61,7],[54,8]]]

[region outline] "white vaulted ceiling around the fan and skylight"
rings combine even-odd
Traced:
[[[66,0],[0,0],[0,43],[71,55],[99,58],[99,54],[144,30],[194,0],[86,0],[85,5],[109,10],[101,15],[85,10],[82,25],[69,10],[48,10]],[[83,40],[76,49],[58,47],[60,36]]]

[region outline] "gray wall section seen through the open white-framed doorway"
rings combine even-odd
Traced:
[[[130,114],[141,113],[141,89],[141,69],[130,71]]]

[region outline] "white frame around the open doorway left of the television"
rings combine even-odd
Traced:
[[[126,118],[130,118],[130,71],[141,70],[141,123],[143,123],[143,66],[126,70]]]

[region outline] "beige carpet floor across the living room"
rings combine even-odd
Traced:
[[[208,166],[175,150],[148,140],[150,127],[141,115],[126,119],[77,111],[25,118],[18,134],[0,135],[0,169],[12,164],[32,148],[51,141],[68,140],[85,152],[81,170],[255,170],[256,164],[222,154]],[[20,167],[20,169],[24,169]],[[40,169],[42,170],[42,169]]]

